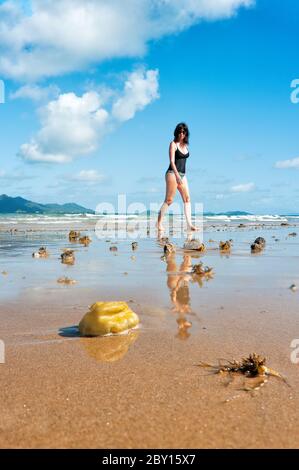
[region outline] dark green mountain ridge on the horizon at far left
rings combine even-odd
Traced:
[[[91,209],[73,202],[68,204],[39,204],[22,197],[0,196],[0,214],[94,214]]]

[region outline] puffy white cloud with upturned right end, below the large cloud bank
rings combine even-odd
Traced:
[[[59,95],[40,108],[41,129],[21,145],[19,155],[30,162],[66,163],[94,152],[105,134],[158,97],[157,75],[154,70],[130,74],[122,96],[114,97],[112,112],[97,91]]]

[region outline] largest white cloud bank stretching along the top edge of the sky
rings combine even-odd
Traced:
[[[106,59],[140,57],[150,40],[254,0],[17,0],[0,5],[0,73],[38,80]],[[28,7],[29,5],[29,7]]]

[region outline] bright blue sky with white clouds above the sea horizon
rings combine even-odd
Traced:
[[[0,2],[0,193],[160,203],[186,121],[193,203],[299,212],[298,2],[108,4]]]

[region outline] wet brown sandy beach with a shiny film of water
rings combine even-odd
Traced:
[[[296,223],[205,224],[203,255],[163,257],[157,239],[98,239],[70,244],[66,227],[1,225],[1,448],[298,448],[299,338]],[[82,229],[82,227],[79,227]],[[266,239],[260,254],[250,243]],[[220,240],[233,240],[230,254]],[[109,241],[107,241],[109,240]],[[209,241],[213,240],[213,241]],[[32,252],[47,246],[47,259]],[[74,265],[60,262],[75,250]],[[192,276],[194,264],[214,277]],[[74,285],[58,284],[68,276]],[[80,338],[88,306],[125,300],[140,326],[128,334]],[[251,352],[288,384],[269,377],[244,390],[199,367],[200,361],[240,359]]]

